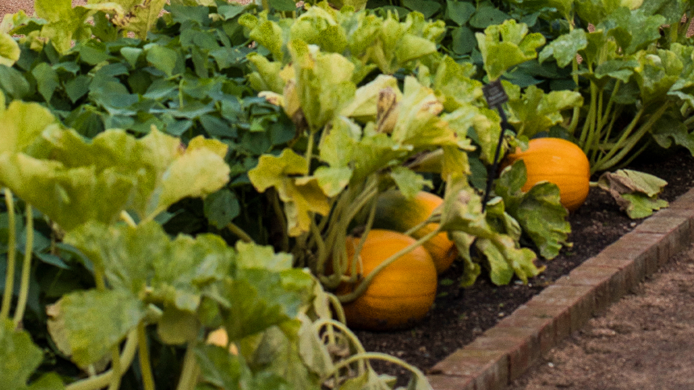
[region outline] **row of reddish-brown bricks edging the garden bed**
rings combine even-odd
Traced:
[[[694,241],[694,188],[430,369],[434,390],[502,390]]]

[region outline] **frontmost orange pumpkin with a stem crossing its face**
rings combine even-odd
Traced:
[[[414,242],[412,237],[402,233],[370,230],[359,254],[363,266],[361,274],[369,275],[388,257]],[[349,264],[352,264],[359,238],[347,237],[346,244]],[[355,285],[343,283],[337,293],[346,294],[354,288]],[[406,328],[427,314],[434,304],[436,290],[434,262],[429,253],[418,246],[382,269],[364,294],[344,305],[347,325],[369,330]]]

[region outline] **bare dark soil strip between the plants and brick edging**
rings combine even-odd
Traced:
[[[651,173],[666,180],[668,185],[661,198],[673,201],[694,187],[694,158],[688,151],[655,153],[649,155],[649,159],[635,162],[629,169]],[[641,221],[629,219],[611,196],[600,189],[591,188],[586,203],[569,216],[572,229],[569,241],[573,242],[573,246],[562,249],[554,260],[538,260],[536,264],[547,268],[527,285],[516,280],[507,286],[496,286],[483,271],[473,287],[462,289],[458,287],[462,271],[454,263],[449,271],[441,275],[434,307],[416,328],[396,332],[362,330],[356,334],[366,350],[400,357],[426,372],[561,275],[633,230]],[[404,368],[383,362],[373,362],[373,366],[377,372],[398,375],[398,382],[407,383],[409,375]]]

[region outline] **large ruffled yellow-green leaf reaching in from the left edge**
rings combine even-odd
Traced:
[[[8,110],[4,117],[8,112],[20,124],[30,120],[31,112]],[[74,130],[49,126],[31,148],[37,158],[0,155],[0,182],[66,230],[90,219],[112,223],[130,208],[142,219],[153,218],[182,198],[204,197],[225,185],[226,147],[196,137],[185,149],[155,129],[141,139],[107,130],[87,141]]]

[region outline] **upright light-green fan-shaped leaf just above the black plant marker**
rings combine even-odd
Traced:
[[[536,49],[545,44],[545,37],[527,32],[527,25],[509,19],[485,28],[484,34],[475,33],[489,80],[496,80],[507,69],[536,58]]]

